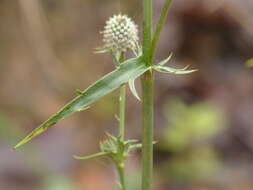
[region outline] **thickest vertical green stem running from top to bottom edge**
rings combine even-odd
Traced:
[[[143,0],[143,59],[147,66],[152,60],[152,0]],[[152,190],[153,183],[153,127],[154,127],[154,73],[147,71],[142,83],[142,190]]]

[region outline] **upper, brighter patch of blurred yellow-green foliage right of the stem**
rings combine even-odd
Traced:
[[[163,145],[170,151],[211,138],[224,126],[221,111],[206,102],[186,105],[173,99],[165,105],[164,114],[168,127],[163,131]]]

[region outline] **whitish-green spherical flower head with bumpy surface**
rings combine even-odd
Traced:
[[[126,15],[111,17],[102,32],[104,35],[104,49],[115,53],[135,51],[138,43],[137,25]]]

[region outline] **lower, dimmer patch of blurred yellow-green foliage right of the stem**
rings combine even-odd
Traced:
[[[213,147],[203,147],[174,155],[162,164],[165,177],[175,181],[206,181],[218,171],[221,163]]]

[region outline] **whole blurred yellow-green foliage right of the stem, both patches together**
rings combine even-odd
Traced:
[[[172,99],[164,114],[168,127],[158,145],[171,153],[160,167],[164,176],[186,182],[210,179],[221,166],[211,140],[226,126],[222,112],[206,102],[186,105]]]

